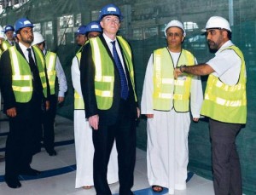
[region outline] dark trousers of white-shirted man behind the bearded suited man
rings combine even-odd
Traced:
[[[55,95],[49,96],[49,110],[44,112],[43,117],[43,141],[47,152],[54,149],[55,144],[55,115],[57,99]]]

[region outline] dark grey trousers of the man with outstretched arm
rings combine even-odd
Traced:
[[[213,185],[216,195],[241,195],[241,166],[236,151],[236,135],[241,124],[210,119]]]

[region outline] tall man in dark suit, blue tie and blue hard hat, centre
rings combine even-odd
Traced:
[[[136,158],[136,119],[139,117],[130,45],[117,36],[122,14],[108,4],[102,8],[103,34],[85,44],[81,57],[81,87],[85,117],[93,129],[96,194],[111,194],[108,160],[116,141],[119,194],[132,194]]]

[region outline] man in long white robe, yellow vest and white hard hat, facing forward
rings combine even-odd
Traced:
[[[148,182],[154,192],[167,187],[173,194],[186,189],[190,111],[197,122],[203,95],[200,77],[173,77],[175,67],[196,64],[194,55],[182,49],[183,24],[170,21],[165,35],[167,47],[154,50],[148,60],[142,114],[148,118]]]

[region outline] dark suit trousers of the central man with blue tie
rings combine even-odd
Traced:
[[[101,123],[98,130],[93,130],[95,147],[93,161],[94,186],[97,195],[111,194],[107,181],[108,160],[116,141],[119,163],[119,194],[130,195],[133,186],[133,171],[136,158],[136,123],[131,117],[129,104],[122,101],[116,123]]]

